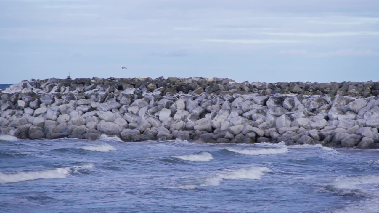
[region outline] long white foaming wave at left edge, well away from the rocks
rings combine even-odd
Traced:
[[[78,169],[91,169],[93,167],[94,166],[92,164],[84,164],[82,166],[63,167],[31,172],[16,172],[13,174],[4,174],[0,172],[0,183],[21,182],[35,179],[66,178],[70,174],[77,172]]]

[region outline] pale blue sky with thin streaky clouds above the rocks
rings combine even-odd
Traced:
[[[379,1],[0,0],[0,83],[69,73],[379,81]]]

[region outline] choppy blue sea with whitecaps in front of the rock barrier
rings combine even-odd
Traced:
[[[0,212],[379,212],[379,150],[0,136]]]

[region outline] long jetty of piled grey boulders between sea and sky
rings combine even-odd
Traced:
[[[379,82],[373,81],[49,78],[11,85],[0,98],[0,133],[22,139],[106,134],[124,141],[379,148]]]

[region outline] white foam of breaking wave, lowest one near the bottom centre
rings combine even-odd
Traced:
[[[222,180],[261,179],[264,172],[271,172],[271,170],[267,167],[251,167],[221,172],[205,179],[201,186],[218,186]]]

